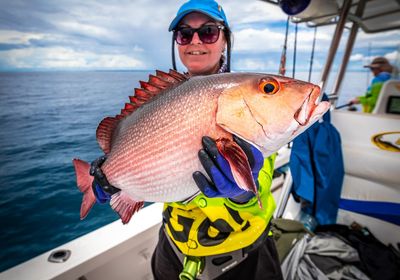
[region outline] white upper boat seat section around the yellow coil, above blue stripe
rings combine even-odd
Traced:
[[[374,135],[400,131],[400,115],[333,111],[332,123],[342,138],[345,173],[400,191],[400,155],[382,150],[371,141]]]

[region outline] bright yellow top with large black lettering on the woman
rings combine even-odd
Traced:
[[[266,230],[275,210],[270,187],[276,155],[264,160],[260,170],[259,194],[245,204],[228,198],[197,195],[187,204],[165,203],[165,231],[184,255],[210,256],[245,248]]]

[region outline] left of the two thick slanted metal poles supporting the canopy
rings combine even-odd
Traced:
[[[328,80],[329,72],[331,70],[333,60],[335,58],[337,49],[339,47],[340,43],[340,38],[342,37],[343,29],[345,27],[347,15],[349,14],[350,7],[351,7],[351,1],[352,0],[345,0],[342,6],[342,11],[340,12],[340,18],[339,22],[336,25],[335,33],[332,38],[332,43],[329,48],[329,53],[328,53],[328,58],[325,63],[325,68],[322,72],[321,76],[321,82],[320,82],[320,87],[321,87],[321,92],[325,91],[325,86],[326,86],[326,81]]]

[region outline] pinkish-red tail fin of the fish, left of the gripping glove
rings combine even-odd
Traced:
[[[96,202],[96,197],[94,196],[92,190],[93,179],[89,175],[90,164],[80,160],[74,159],[73,161],[76,173],[76,184],[81,192],[83,192],[82,204],[81,204],[81,220],[83,220],[93,204]]]

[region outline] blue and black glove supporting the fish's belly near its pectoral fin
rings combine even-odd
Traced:
[[[258,173],[264,164],[262,153],[236,136],[233,136],[233,140],[245,152],[258,188]],[[201,192],[207,197],[230,198],[233,202],[240,204],[248,202],[254,193],[239,188],[233,178],[228,161],[219,153],[215,141],[204,136],[202,144],[203,149],[199,151],[199,158],[211,181],[200,171],[193,173],[193,179]]]

